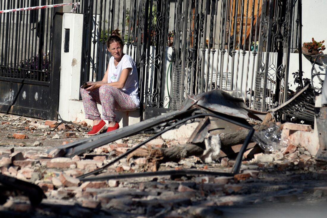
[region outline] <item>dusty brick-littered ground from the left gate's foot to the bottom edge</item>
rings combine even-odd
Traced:
[[[0,205],[2,217],[326,217],[326,165],[303,155],[308,154],[303,148],[244,159],[242,174],[235,177],[81,182],[74,177],[101,167],[149,135],[124,138],[72,159],[49,158],[48,148],[88,137],[85,131],[51,131],[54,128],[44,126],[44,120],[0,116],[1,173],[37,184],[47,196],[33,208],[26,197],[10,195]],[[14,133],[26,134],[28,139],[15,139]],[[149,145],[169,147],[177,143],[159,138]],[[22,165],[23,161],[30,162]],[[142,172],[144,163],[145,158],[130,163],[123,159],[99,176]],[[232,164],[233,160],[226,158],[222,163],[204,164],[191,157],[162,164],[159,170],[230,172]]]

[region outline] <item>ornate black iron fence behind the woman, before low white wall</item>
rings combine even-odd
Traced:
[[[81,82],[100,80],[106,39],[119,28],[139,70],[142,116],[179,109],[187,95],[242,92],[265,111],[287,99],[297,45],[296,0],[84,0]]]

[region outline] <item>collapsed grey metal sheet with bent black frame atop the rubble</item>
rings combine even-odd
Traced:
[[[236,96],[236,97],[235,97]],[[223,90],[213,90],[207,93],[202,93],[199,95],[188,97],[184,101],[183,107],[179,111],[171,112],[165,115],[161,115],[155,118],[150,118],[140,123],[133,124],[131,126],[124,127],[122,129],[118,129],[112,132],[107,132],[104,134],[100,134],[97,136],[92,136],[87,139],[79,140],[77,142],[73,142],[67,145],[62,145],[53,149],[62,149],[65,153],[66,157],[73,157],[74,155],[79,155],[84,152],[88,152],[102,145],[108,144],[115,140],[118,140],[123,137],[128,137],[134,134],[143,133],[143,132],[151,132],[154,133],[151,137],[143,141],[142,143],[134,146],[124,154],[118,156],[110,163],[104,165],[102,168],[97,169],[93,172],[84,174],[78,177],[81,180],[94,180],[97,178],[85,178],[87,176],[100,173],[110,165],[119,161],[120,159],[126,157],[128,154],[140,148],[146,142],[156,138],[162,133],[178,127],[179,125],[187,123],[187,121],[195,121],[197,118],[205,118],[205,117],[215,117],[221,120],[228,121],[229,123],[238,125],[245,129],[249,129],[249,134],[246,137],[246,140],[243,143],[243,146],[236,158],[235,164],[232,169],[232,173],[221,173],[221,172],[206,172],[206,171],[174,171],[174,174],[210,174],[210,175],[233,175],[239,173],[242,156],[245,152],[248,144],[251,141],[252,135],[254,133],[254,129],[247,122],[250,118],[260,120],[251,110],[246,109],[245,104],[242,98],[239,98],[239,93],[235,91],[223,91]],[[205,132],[207,133],[207,132]],[[203,133],[202,133],[203,134]],[[50,152],[51,150],[48,150]],[[152,173],[144,173],[144,174],[129,174],[126,175],[128,177],[139,177],[142,176],[153,176],[153,175],[170,175],[171,171],[160,171],[160,172],[152,172]],[[125,178],[123,175],[118,176],[119,178]],[[117,175],[114,176],[106,176],[102,179],[106,178],[118,178]]]

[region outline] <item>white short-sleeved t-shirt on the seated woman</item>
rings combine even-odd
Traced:
[[[128,94],[134,101],[137,107],[140,106],[140,99],[138,96],[139,89],[139,78],[137,76],[137,69],[134,60],[128,55],[124,54],[122,59],[119,61],[115,67],[113,63],[113,56],[109,60],[109,70],[108,70],[108,83],[117,82],[119,80],[122,70],[126,68],[132,68],[129,72],[125,86],[121,88],[124,93]]]

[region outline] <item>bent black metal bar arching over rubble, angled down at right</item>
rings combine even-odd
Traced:
[[[114,160],[112,160],[111,162],[109,162],[108,164],[104,165],[103,167],[95,170],[95,171],[92,171],[90,173],[86,173],[84,175],[81,175],[77,178],[85,178],[87,176],[90,176],[90,175],[93,175],[93,174],[96,174],[96,173],[99,173],[99,172],[102,172],[104,169],[108,168],[110,165],[114,164],[115,162],[119,161],[120,159],[126,157],[128,154],[130,154],[131,152],[133,152],[134,150],[136,150],[137,148],[140,148],[142,145],[146,144],[147,142],[151,141],[152,139],[158,137],[159,135],[163,134],[164,132],[167,132],[168,130],[172,129],[172,128],[175,128],[176,126],[178,125],[181,125],[182,123],[185,123],[186,121],[190,120],[190,119],[195,119],[197,117],[215,117],[215,118],[219,118],[219,119],[222,119],[222,120],[225,120],[225,121],[228,121],[228,122],[231,122],[235,125],[239,125],[243,128],[246,128],[246,129],[249,129],[250,130],[250,133],[249,135],[247,136],[246,140],[244,141],[243,143],[243,146],[236,158],[236,161],[235,161],[235,164],[234,164],[234,167],[233,167],[233,172],[234,173],[238,173],[239,172],[239,168],[242,164],[242,157],[243,157],[243,153],[245,152],[245,149],[247,148],[247,146],[249,145],[250,143],[250,140],[252,138],[252,135],[254,133],[254,129],[250,126],[250,125],[245,125],[241,122],[238,122],[238,121],[235,121],[235,120],[232,120],[230,118],[227,118],[227,117],[224,117],[222,114],[221,115],[218,115],[218,114],[208,114],[208,113],[203,113],[203,114],[197,114],[197,115],[193,115],[193,116],[190,116],[190,117],[187,117],[183,120],[180,120],[176,123],[174,123],[173,125],[171,125],[170,127],[167,127],[166,129],[163,129],[162,131],[154,134],[153,136],[149,137],[148,139],[146,139],[145,141],[141,142],[140,144],[134,146],[133,148],[129,149],[128,151],[126,151],[125,153],[121,154],[120,156],[118,156],[117,158],[115,158]],[[226,116],[226,115],[225,115]]]

